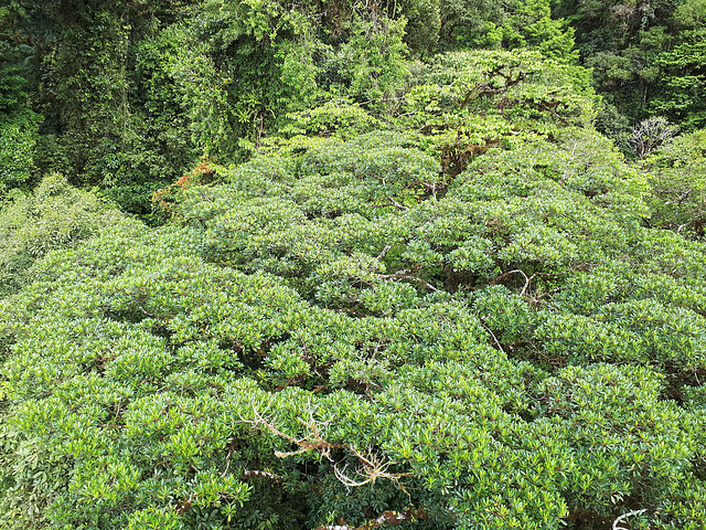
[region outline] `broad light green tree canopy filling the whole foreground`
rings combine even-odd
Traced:
[[[459,171],[443,129],[295,113],[170,225],[35,265],[0,308],[3,524],[703,526],[706,248],[641,225],[649,181],[579,126],[569,67],[528,54],[462,105],[502,59],[405,95],[407,124],[505,134]]]

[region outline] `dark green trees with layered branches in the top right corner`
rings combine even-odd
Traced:
[[[705,8],[702,0],[595,0],[559,2],[557,13],[570,17],[582,64],[620,115],[632,123],[662,115],[693,130],[703,127]]]

